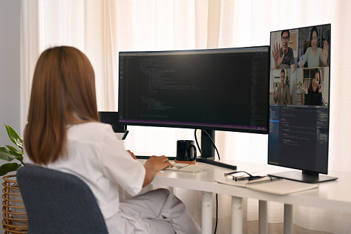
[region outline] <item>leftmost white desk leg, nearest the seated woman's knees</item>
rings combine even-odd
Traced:
[[[202,234],[212,233],[212,193],[202,192],[201,229]]]

